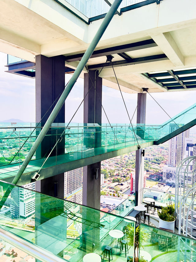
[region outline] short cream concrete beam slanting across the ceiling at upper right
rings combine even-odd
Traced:
[[[169,32],[151,34],[151,37],[175,66],[184,65],[184,57]]]

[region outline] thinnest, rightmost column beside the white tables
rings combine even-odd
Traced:
[[[146,119],[146,93],[138,93],[137,124],[145,124]],[[142,189],[144,187],[144,157],[142,149],[138,149],[135,155],[135,192],[136,205],[141,204]]]

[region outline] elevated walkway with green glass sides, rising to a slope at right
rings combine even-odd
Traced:
[[[65,123],[54,123],[17,184],[31,182],[35,171],[43,179],[136,151],[138,145],[145,148],[164,143],[196,124],[195,111],[196,104],[162,125],[74,124],[66,128]],[[17,127],[0,124],[0,179],[13,180],[41,128],[36,123],[20,123]]]

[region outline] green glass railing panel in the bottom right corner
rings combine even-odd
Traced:
[[[196,240],[140,224],[139,257],[150,261],[196,260]],[[136,250],[137,254],[137,250]]]

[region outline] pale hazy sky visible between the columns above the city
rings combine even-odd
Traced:
[[[35,122],[35,79],[5,72],[7,70],[6,64],[7,55],[0,53],[0,121],[15,118],[25,122]],[[66,83],[70,77],[70,75],[65,75]],[[66,100],[66,122],[70,121],[83,99],[83,85],[84,80],[79,78]],[[196,91],[161,92],[151,93],[151,95],[171,117],[188,108],[196,101]],[[132,118],[137,105],[137,94],[123,93],[123,97],[130,118]],[[129,123],[119,90],[103,86],[102,104],[110,123]],[[163,123],[169,119],[168,115],[147,94],[146,123]],[[72,121],[83,123],[83,104]],[[136,113],[132,122],[136,123]],[[103,110],[102,123],[108,123]]]

